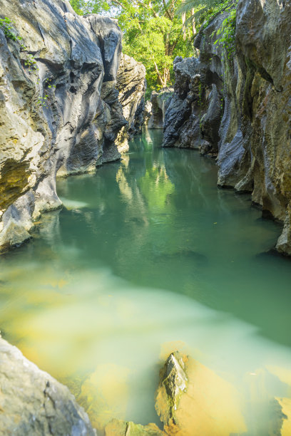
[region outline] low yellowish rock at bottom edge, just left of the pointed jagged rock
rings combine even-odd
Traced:
[[[105,427],[106,436],[166,436],[157,425],[140,425],[134,422],[111,420]]]

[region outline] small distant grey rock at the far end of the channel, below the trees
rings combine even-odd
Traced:
[[[159,91],[153,91],[151,93],[150,103],[152,104],[152,115],[148,121],[149,129],[163,129],[165,112],[170,104],[173,91],[173,88],[162,88]]]

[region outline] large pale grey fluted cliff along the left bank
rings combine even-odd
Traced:
[[[29,239],[41,212],[61,206],[56,175],[93,171],[120,157],[115,140],[127,121],[115,88],[122,37],[115,21],[76,16],[67,0],[3,0],[1,15],[23,38],[12,41],[0,28],[0,249],[6,249]]]

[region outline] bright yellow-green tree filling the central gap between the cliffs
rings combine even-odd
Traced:
[[[119,24],[124,30],[123,49],[146,66],[150,89],[173,81],[175,56],[193,56],[191,35],[183,37],[180,17],[175,11],[180,0],[150,1],[123,9]]]

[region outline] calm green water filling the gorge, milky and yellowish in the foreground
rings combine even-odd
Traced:
[[[273,435],[282,422],[290,435],[291,263],[265,254],[281,227],[219,190],[213,160],[161,139],[147,132],[122,162],[58,181],[65,207],[1,256],[2,334],[98,429],[158,423],[158,371],[179,349],[218,377],[225,415],[224,383],[235,391],[240,423],[218,435]]]

